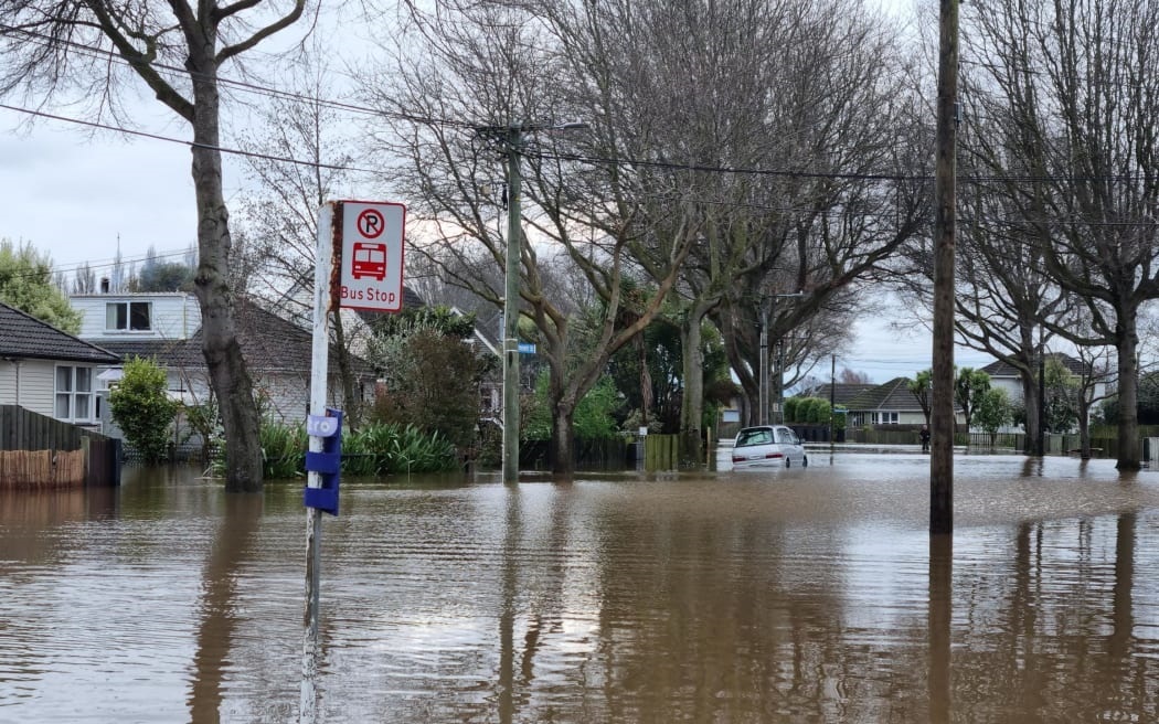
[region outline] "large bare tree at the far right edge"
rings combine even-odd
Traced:
[[[1004,0],[965,6],[974,92],[1007,153],[989,173],[1038,240],[1055,283],[1087,306],[1111,345],[1121,403],[1120,469],[1138,469],[1138,315],[1159,298],[1159,5],[1145,0]]]

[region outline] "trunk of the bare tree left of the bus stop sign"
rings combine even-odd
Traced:
[[[205,52],[216,43],[206,38]],[[212,58],[190,57],[194,78],[192,175],[197,197],[197,277],[194,279],[202,308],[202,352],[217,394],[225,429],[226,480],[231,492],[262,489],[261,418],[254,401],[254,383],[238,342],[236,305],[228,283],[229,213],[221,190],[221,153],[217,67]]]

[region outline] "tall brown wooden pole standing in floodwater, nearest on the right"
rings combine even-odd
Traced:
[[[938,159],[934,167],[934,330],[930,534],[954,532],[954,248],[957,176],[958,0],[940,0]]]

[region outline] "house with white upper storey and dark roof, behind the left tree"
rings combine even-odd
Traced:
[[[81,337],[118,358],[97,374],[100,392],[107,394],[121,379],[121,361],[136,356],[153,359],[166,370],[172,397],[184,404],[210,400],[201,308],[191,294],[74,294],[70,300],[83,314]],[[239,342],[262,411],[283,423],[304,419],[309,403],[312,332],[249,299],[241,299],[235,312]],[[370,365],[355,358],[355,374],[360,398],[371,400]],[[342,407],[337,350],[333,345],[327,376],[328,400]]]

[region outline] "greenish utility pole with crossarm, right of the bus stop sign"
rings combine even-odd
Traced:
[[[503,298],[503,482],[519,481],[519,256],[522,254],[522,178],[519,153],[523,125],[506,132],[508,247]]]

